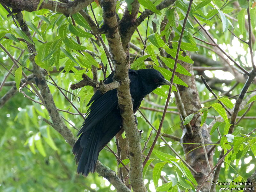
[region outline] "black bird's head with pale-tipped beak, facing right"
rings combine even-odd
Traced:
[[[140,69],[137,72],[140,73],[140,76],[143,78],[145,86],[151,89],[150,92],[161,85],[171,85],[156,69]]]

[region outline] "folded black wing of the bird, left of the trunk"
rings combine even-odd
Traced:
[[[94,96],[95,95],[96,93]],[[77,135],[92,129],[93,126],[107,116],[113,110],[113,108],[117,107],[116,90],[110,90],[103,95],[96,95],[94,100],[91,102],[92,105],[88,109],[87,116]]]

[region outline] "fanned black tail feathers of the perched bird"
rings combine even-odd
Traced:
[[[73,154],[76,158],[77,170],[76,172],[82,173],[87,176],[89,172],[94,172],[96,168],[96,162],[99,156],[99,135],[95,129],[91,129],[90,132],[84,132],[80,135],[73,147]]]

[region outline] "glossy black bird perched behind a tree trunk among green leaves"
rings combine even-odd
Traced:
[[[103,82],[113,82],[110,74]],[[164,76],[155,69],[129,69],[130,92],[133,101],[133,113],[140,107],[143,98],[160,85],[171,85]],[[117,103],[116,89],[104,94],[96,91],[87,104],[92,105],[77,136],[80,135],[73,147],[76,158],[77,173],[87,176],[94,172],[100,151],[121,130],[122,118]]]

